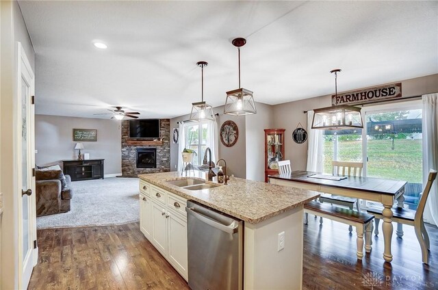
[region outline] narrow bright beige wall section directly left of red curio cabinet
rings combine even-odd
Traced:
[[[274,128],[271,105],[257,103],[257,114],[248,115],[246,123],[246,178],[265,181],[265,131]]]

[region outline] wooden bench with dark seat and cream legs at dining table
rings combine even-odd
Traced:
[[[342,207],[334,207],[332,205],[325,205],[320,202],[308,202],[304,205],[305,213],[319,215],[323,218],[328,218],[336,222],[342,222],[350,226],[356,227],[357,233],[357,259],[361,260],[363,257],[363,234],[365,233],[365,251],[371,252],[371,235],[372,235],[372,220],[374,215],[353,211],[351,209],[344,209]],[[307,217],[307,215],[306,215]],[[305,224],[308,223],[305,218]]]

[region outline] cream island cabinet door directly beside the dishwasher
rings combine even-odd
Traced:
[[[188,280],[187,221],[168,211],[168,261]]]

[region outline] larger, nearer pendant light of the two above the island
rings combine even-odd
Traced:
[[[239,88],[227,92],[227,101],[225,101],[224,114],[233,116],[244,116],[257,114],[253,92],[240,86],[240,47],[246,44],[245,38],[235,38],[233,45],[237,47],[239,53]]]

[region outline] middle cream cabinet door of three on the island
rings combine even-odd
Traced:
[[[152,206],[152,240],[151,242],[163,254],[167,255],[167,219],[166,211],[162,205],[155,201]]]

